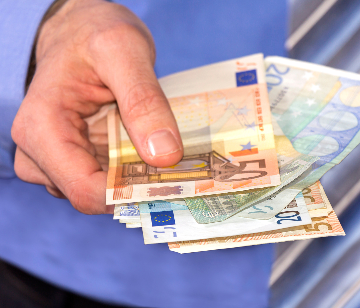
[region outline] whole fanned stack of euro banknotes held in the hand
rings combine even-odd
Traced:
[[[179,253],[345,235],[319,179],[360,143],[360,75],[255,54],[159,83],[184,157],[144,163],[110,105],[114,219]]]

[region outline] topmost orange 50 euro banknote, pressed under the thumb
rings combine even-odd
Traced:
[[[116,105],[109,107],[106,204],[279,185],[264,67],[256,54],[159,80],[184,145],[183,159],[167,168],[141,160]]]

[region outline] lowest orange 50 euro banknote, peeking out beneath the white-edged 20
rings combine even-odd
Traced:
[[[320,209],[309,210],[309,215],[311,217],[311,222],[309,224],[267,232],[235,235],[230,237],[169,242],[169,249],[178,253],[189,253],[266,243],[295,241],[299,239],[345,235],[345,232],[336,214],[334,213],[320,182],[317,182],[316,186],[312,187],[312,194],[309,192],[309,190],[304,191],[308,196],[304,196],[308,208],[314,207],[314,204],[316,204],[315,207],[323,206],[321,211]],[[321,198],[321,201],[319,198]],[[291,206],[291,204],[289,205]],[[293,219],[293,215],[296,213],[291,212],[291,209],[294,210],[294,208],[291,207],[289,209],[285,208],[282,212],[279,213],[280,215],[278,216],[282,217],[283,219]]]

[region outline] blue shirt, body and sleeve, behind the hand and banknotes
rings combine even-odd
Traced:
[[[88,216],[13,170],[12,121],[52,0],[0,3],[0,257],[68,290],[140,307],[267,307],[270,244],[180,255]],[[159,77],[256,52],[284,55],[285,0],[122,1],[148,25]],[[121,73],[121,72],[119,72]]]

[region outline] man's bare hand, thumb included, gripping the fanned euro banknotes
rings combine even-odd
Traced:
[[[151,34],[129,10],[104,0],[67,1],[40,31],[36,72],[13,123],[18,177],[67,197],[83,213],[112,213],[107,173],[83,119],[115,100],[147,164],[179,162],[183,145],[154,60]]]

